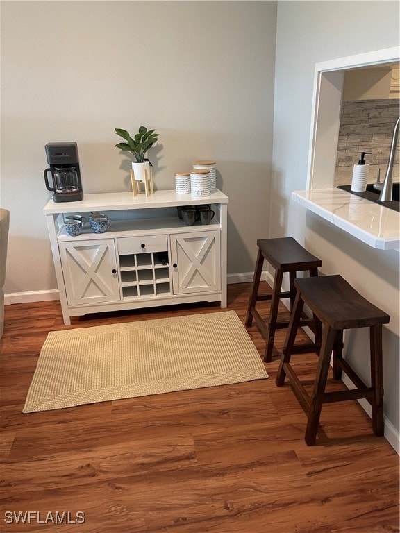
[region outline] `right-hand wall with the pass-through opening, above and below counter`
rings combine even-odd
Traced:
[[[399,253],[377,251],[290,200],[307,187],[315,63],[399,45],[397,2],[281,1],[276,31],[271,237],[292,235],[391,315],[383,335],[386,431],[399,446]],[[296,98],[293,94],[296,94]],[[368,380],[367,330],[347,358]],[[394,442],[397,441],[397,442]]]

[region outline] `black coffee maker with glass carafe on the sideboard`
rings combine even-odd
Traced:
[[[45,149],[50,168],[44,171],[44,181],[47,190],[54,192],[53,200],[55,202],[82,200],[83,190],[76,142],[49,142]],[[49,183],[49,172],[53,186]]]

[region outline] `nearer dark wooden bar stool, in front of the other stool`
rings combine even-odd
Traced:
[[[294,393],[306,410],[308,416],[306,443],[308,446],[315,444],[323,403],[358,398],[367,398],[372,405],[372,428],[376,435],[383,435],[382,324],[387,324],[390,316],[365,300],[342,276],[294,280],[294,286],[297,288],[296,300],[290,317],[281,364],[276,375],[276,384],[281,387],[287,375]],[[292,348],[304,303],[323,325],[322,346],[311,395],[307,394],[290,366],[290,356],[293,353]],[[371,387],[367,387],[342,358],[343,330],[352,328],[369,328]],[[333,378],[339,380],[344,371],[356,389],[325,392],[332,350]]]

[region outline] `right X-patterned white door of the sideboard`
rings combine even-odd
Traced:
[[[174,294],[221,289],[220,232],[171,235]]]

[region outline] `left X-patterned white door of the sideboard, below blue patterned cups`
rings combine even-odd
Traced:
[[[120,300],[114,239],[58,246],[69,305]]]

